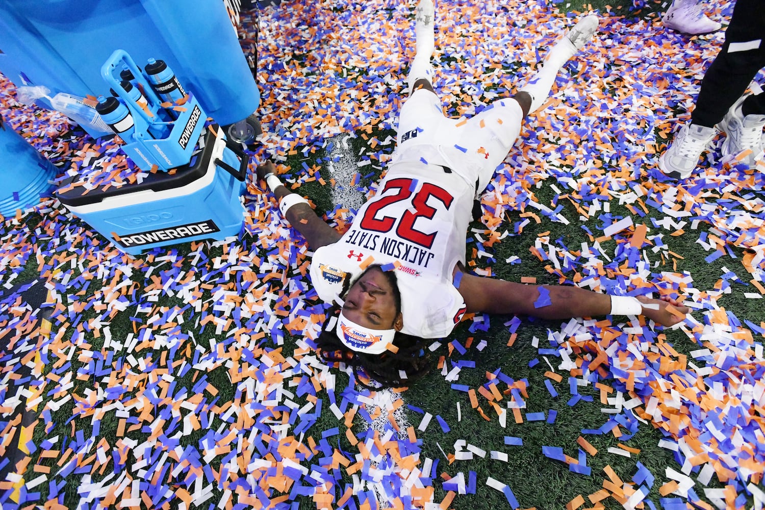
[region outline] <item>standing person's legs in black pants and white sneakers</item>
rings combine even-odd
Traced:
[[[761,150],[759,138],[765,125],[765,117],[755,117],[765,114],[765,100],[758,96],[742,97],[742,94],[757,72],[765,67],[763,35],[765,8],[762,2],[737,0],[731,24],[725,31],[725,42],[702,80],[691,122],[682,127],[659,158],[662,172],[677,179],[691,175],[702,152],[715,138],[718,124],[731,137],[731,141],[726,141],[726,154],[748,148],[753,154],[747,162],[754,162],[754,152]],[[750,115],[755,117],[748,119]]]

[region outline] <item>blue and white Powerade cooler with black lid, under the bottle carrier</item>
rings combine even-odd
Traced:
[[[155,172],[141,183],[67,189],[61,203],[122,252],[140,255],[147,249],[202,239],[223,240],[239,234],[244,222],[240,197],[249,158],[226,140],[223,129],[210,125],[201,134],[187,165],[175,172]],[[64,191],[61,191],[63,189]]]

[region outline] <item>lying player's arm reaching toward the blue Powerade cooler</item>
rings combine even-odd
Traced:
[[[276,175],[276,166],[271,161],[266,161],[258,167],[257,174],[259,180],[265,180],[269,174]],[[340,239],[340,233],[317,216],[311,206],[308,205],[308,201],[301,200],[299,195],[292,193],[281,182],[276,184],[276,181],[272,181],[268,184],[276,197],[276,201],[280,204],[285,204],[282,202],[285,197],[290,195],[295,197],[288,199],[294,200],[294,203],[285,209],[285,218],[308,241],[308,248],[315,250],[324,245],[331,245]]]

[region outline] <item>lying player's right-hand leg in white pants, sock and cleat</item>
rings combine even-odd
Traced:
[[[597,16],[581,18],[564,37],[549,50],[542,67],[508,99],[499,99],[454,130],[458,145],[464,148],[463,158],[477,161],[477,191],[483,191],[499,166],[513,148],[523,119],[542,107],[550,95],[558,71],[597,31]],[[453,151],[454,152],[454,151]],[[457,154],[457,153],[454,153]]]

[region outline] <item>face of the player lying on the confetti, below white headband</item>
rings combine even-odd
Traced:
[[[393,288],[382,270],[374,266],[348,290],[343,315],[373,330],[401,330],[401,313],[396,313]]]

